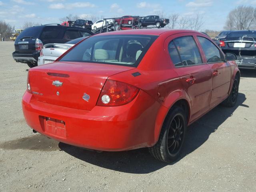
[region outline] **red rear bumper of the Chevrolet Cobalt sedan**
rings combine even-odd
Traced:
[[[104,151],[153,146],[159,108],[160,103],[142,90],[126,105],[95,106],[91,111],[39,102],[28,92],[22,98],[26,122],[37,132],[74,146]],[[65,122],[61,136],[49,133],[42,117]]]

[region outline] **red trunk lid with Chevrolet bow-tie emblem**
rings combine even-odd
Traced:
[[[40,102],[92,110],[109,76],[134,69],[83,62],[54,62],[30,69],[29,82]]]

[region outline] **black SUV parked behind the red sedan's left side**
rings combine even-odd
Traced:
[[[37,66],[38,56],[44,44],[66,43],[72,39],[93,35],[87,29],[67,26],[34,26],[26,28],[16,38],[12,57],[16,62]]]

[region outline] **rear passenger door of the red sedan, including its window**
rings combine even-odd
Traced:
[[[212,71],[204,63],[194,34],[184,33],[170,36],[168,50],[174,70],[191,101],[191,120],[209,110],[212,95]]]

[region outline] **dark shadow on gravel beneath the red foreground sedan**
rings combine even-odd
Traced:
[[[206,140],[208,140],[210,134],[215,132],[220,125],[230,116],[232,116],[234,110],[239,106],[249,107],[243,104],[246,100],[244,94],[239,93],[236,106],[233,108],[227,108],[224,106],[217,106],[208,114],[203,116],[200,120],[196,121],[188,127],[188,133],[186,141],[184,143],[183,152],[178,162],[184,156],[190,154],[197,148],[199,148]],[[130,150],[124,152],[102,152],[89,151],[68,144],[59,143],[60,149],[66,153],[90,164],[100,166],[103,168],[116,170],[120,172],[128,172],[134,174],[147,174],[154,172],[166,165],[172,165],[176,162],[166,164],[154,159],[148,153],[147,148]]]

